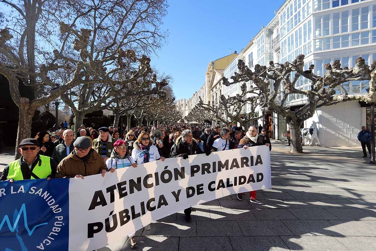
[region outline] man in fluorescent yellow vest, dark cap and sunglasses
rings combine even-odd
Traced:
[[[58,164],[48,156],[38,154],[39,143],[34,138],[21,141],[18,151],[22,155],[5,167],[0,181],[55,178]]]

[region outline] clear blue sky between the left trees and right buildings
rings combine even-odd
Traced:
[[[171,75],[176,99],[190,98],[205,82],[206,67],[238,53],[274,17],[284,0],[169,0],[170,35],[152,65]]]

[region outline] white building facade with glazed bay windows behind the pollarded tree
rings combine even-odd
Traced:
[[[292,62],[299,54],[305,55],[305,70],[315,65],[315,74],[323,76],[324,65],[340,60],[342,67],[352,68],[361,56],[371,65],[376,60],[376,1],[374,0],[287,0],[276,11],[266,27],[250,40],[239,55],[224,68],[223,75],[230,77],[237,71],[237,61],[242,59],[254,70],[256,64]],[[291,81],[294,74],[290,76]],[[247,83],[250,87],[252,81]],[[308,90],[310,81],[300,77],[297,89]],[[224,87],[224,95],[240,93],[241,83]],[[349,94],[366,94],[369,81],[350,81],[343,84]],[[337,94],[343,92],[337,88]],[[290,94],[285,105],[299,109],[307,102],[301,94]],[[250,112],[247,104],[244,113]],[[262,112],[258,108],[261,115]],[[324,106],[307,119],[304,128],[318,128],[322,146],[358,145],[357,134],[362,125],[370,130],[370,107],[358,101]],[[285,139],[288,125],[277,113],[268,112],[250,125],[261,124],[271,138]]]

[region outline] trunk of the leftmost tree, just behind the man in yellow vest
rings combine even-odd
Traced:
[[[21,154],[18,152],[18,144],[21,143],[21,140],[31,137],[31,124],[32,118],[34,116],[34,111],[30,111],[29,99],[26,97],[21,97],[21,103],[18,105],[19,117],[18,117],[18,129],[17,129],[17,140],[16,140],[16,149],[14,154],[14,159],[17,160],[21,157]]]

